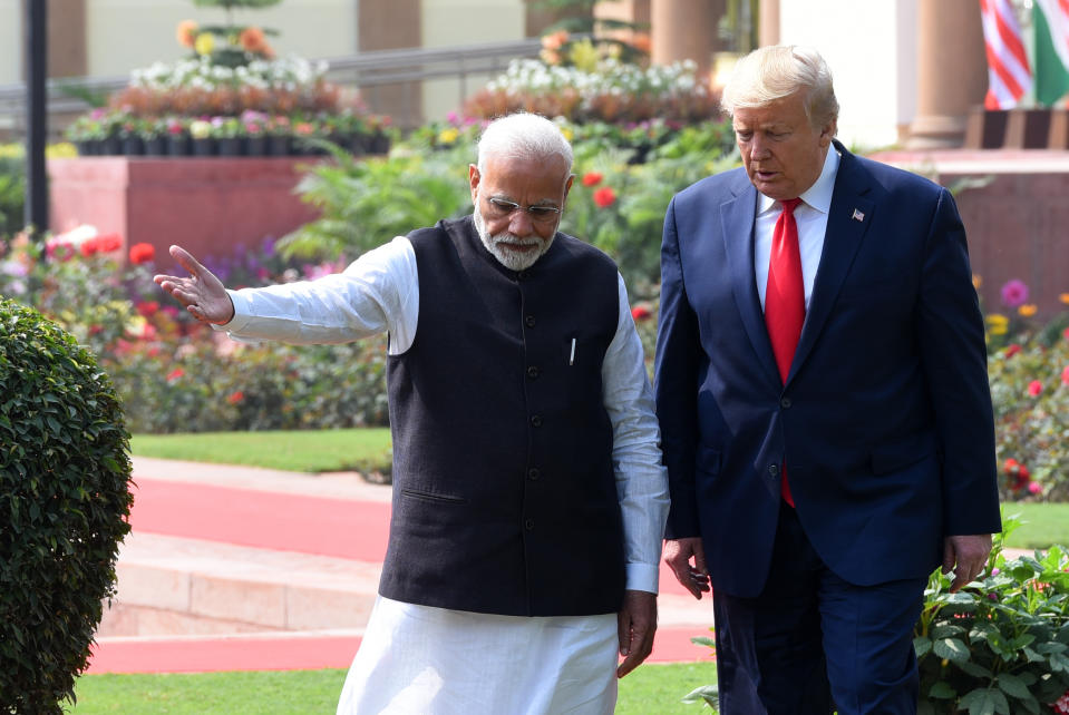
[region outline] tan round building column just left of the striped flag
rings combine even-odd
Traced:
[[[917,114],[911,149],[959,147],[972,107],[988,88],[980,8],[975,0],[919,0]]]

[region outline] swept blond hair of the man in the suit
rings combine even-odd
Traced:
[[[814,127],[835,124],[839,102],[832,86],[832,70],[816,50],[797,45],[761,47],[738,61],[723,88],[720,106],[728,115],[744,108],[805,92],[806,117]]]

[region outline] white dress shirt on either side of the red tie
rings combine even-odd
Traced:
[[[829,147],[820,176],[799,196],[801,203],[794,212],[795,223],[798,224],[798,248],[801,252],[801,278],[806,287],[806,312],[809,311],[809,296],[813,295],[813,283],[820,265],[820,254],[824,252],[824,234],[828,228],[828,210],[832,208],[832,193],[835,190],[835,175],[838,170],[838,151],[835,147]],[[754,227],[754,274],[762,310],[765,290],[768,287],[768,257],[772,251],[772,231],[781,210],[783,204],[758,193],[757,224]]]

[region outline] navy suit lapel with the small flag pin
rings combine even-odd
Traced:
[[[816,344],[827,323],[843,280],[854,263],[862,238],[875,217],[875,204],[865,198],[872,179],[857,158],[838,141],[839,169],[835,177],[832,206],[828,209],[828,226],[824,234],[824,249],[809,297],[809,310],[801,327],[801,337],[790,365],[787,382],[795,376]]]

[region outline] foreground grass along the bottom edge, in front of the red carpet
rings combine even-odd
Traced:
[[[702,705],[680,702],[716,682],[716,665],[645,665],[620,682],[618,715],[700,715]],[[78,679],[75,715],[307,715],[333,713],[344,670],[203,673],[195,675],[87,675]]]

